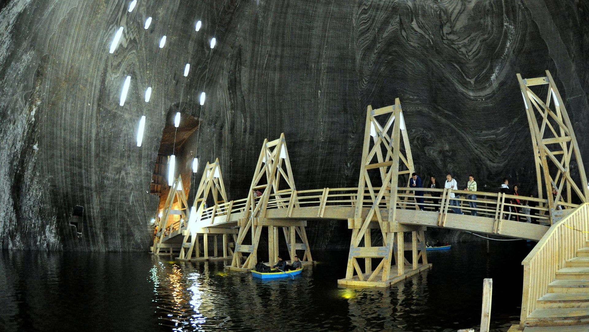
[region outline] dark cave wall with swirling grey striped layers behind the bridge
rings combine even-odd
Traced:
[[[297,189],[357,185],[366,106],[395,97],[422,177],[474,173],[493,191],[507,176],[535,194],[518,72],[552,72],[589,157],[583,1],[129,2],[0,1],[1,247],[146,250],[170,107],[201,120],[194,153],[219,157],[235,199],[280,132]],[[343,222],[309,224],[316,247],[349,241]]]

